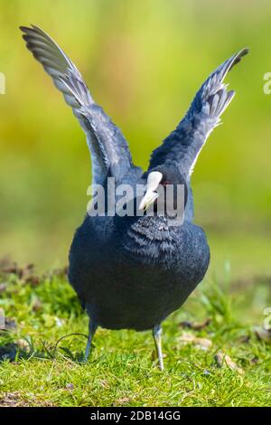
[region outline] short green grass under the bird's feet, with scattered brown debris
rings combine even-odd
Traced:
[[[61,270],[38,279],[9,268],[1,281],[0,405],[270,405],[270,346],[244,313],[236,317],[236,296],[221,282],[203,283],[164,323],[162,373],[148,332],[99,329],[88,364],[79,363],[83,335],[57,345],[88,324]]]

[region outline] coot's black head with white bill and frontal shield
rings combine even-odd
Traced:
[[[187,203],[187,183],[179,169],[174,165],[158,165],[145,174],[145,195],[139,204],[139,210],[146,211],[150,205],[154,212],[164,211],[173,216],[173,212],[185,208]]]

